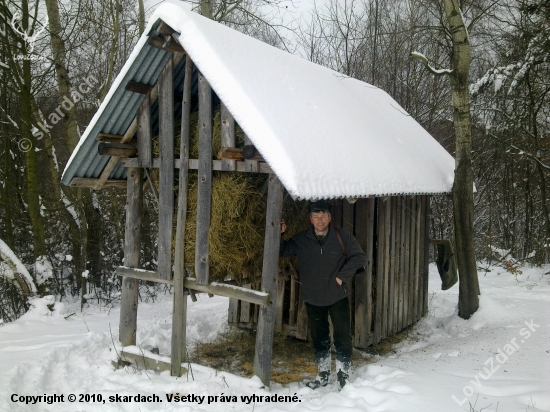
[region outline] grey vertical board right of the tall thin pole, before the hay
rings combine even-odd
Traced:
[[[208,231],[212,209],[212,89],[199,73],[199,172],[195,275],[200,284],[208,284]]]

